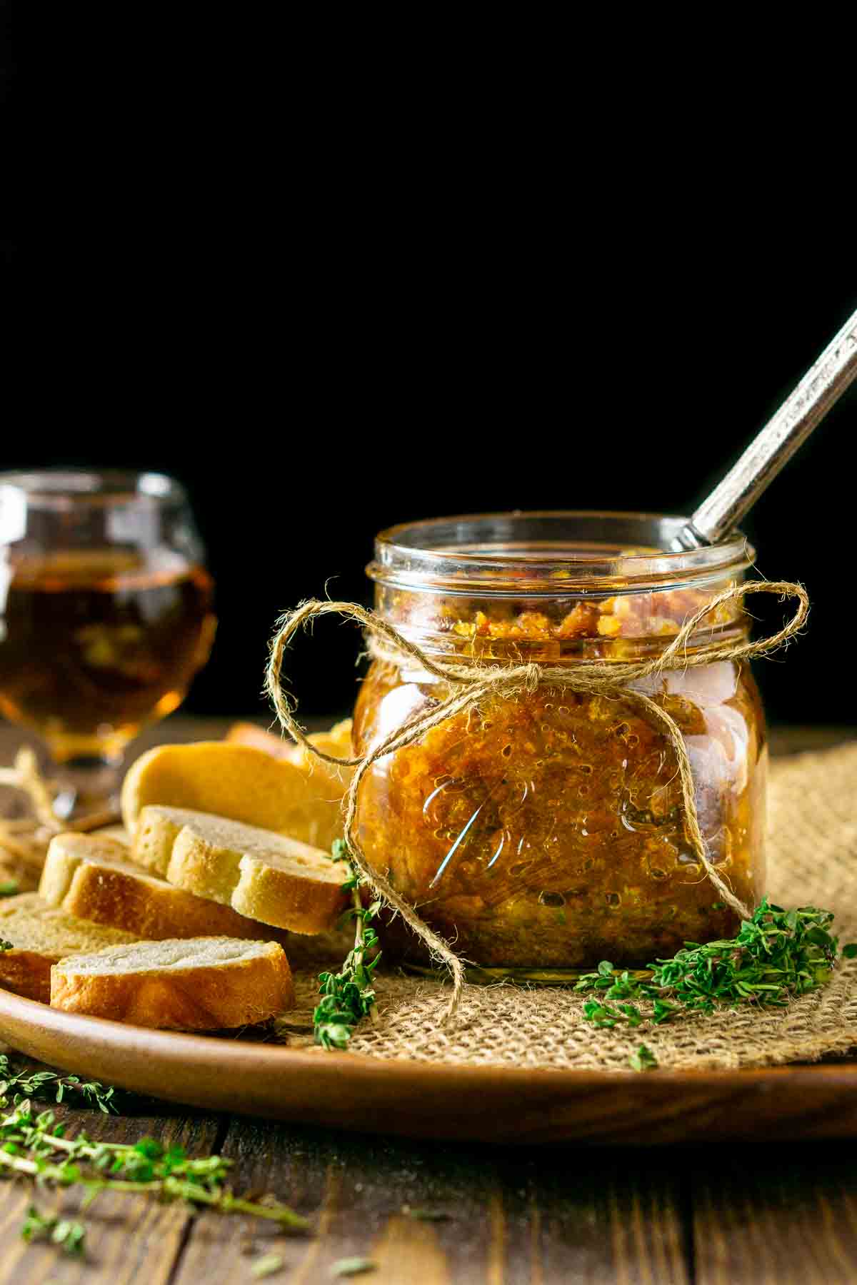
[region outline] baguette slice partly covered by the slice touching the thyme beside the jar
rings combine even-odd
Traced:
[[[128,860],[127,847],[100,834],[58,834],[50,840],[39,888],[69,915],[134,932],[146,941],[168,937],[239,937],[281,941],[229,906],[194,897]]]

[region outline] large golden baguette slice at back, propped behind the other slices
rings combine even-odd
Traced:
[[[342,834],[346,783],[306,772],[252,745],[203,740],[159,745],[122,783],[122,817],[134,834],[148,804],[212,812],[289,834],[325,851]]]

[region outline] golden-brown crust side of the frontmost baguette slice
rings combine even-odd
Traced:
[[[157,943],[153,943],[157,946]],[[110,952],[102,952],[109,956]],[[274,942],[249,959],[190,968],[75,971],[75,956],[50,970],[51,1007],[166,1031],[252,1025],[294,1005],[292,970]]]

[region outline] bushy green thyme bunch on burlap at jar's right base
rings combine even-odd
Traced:
[[[600,992],[597,1000],[586,1001],[583,1016],[609,1028],[637,1027],[646,1018],[659,1025],[681,1007],[703,1013],[718,1005],[781,1007],[830,978],[839,957],[839,941],[829,932],[833,919],[829,910],[815,906],[785,911],[766,897],[738,937],[704,946],[687,942],[673,959],[650,964],[648,979],[617,973],[603,960],[596,973],[586,973],[576,986]],[[845,946],[842,953],[853,959],[857,948]],[[642,1014],[640,1001],[651,1001],[651,1011]]]

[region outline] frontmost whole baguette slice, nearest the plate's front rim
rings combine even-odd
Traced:
[[[294,986],[275,942],[171,938],[62,959],[50,970],[50,1002],[137,1027],[220,1031],[292,1007]]]

